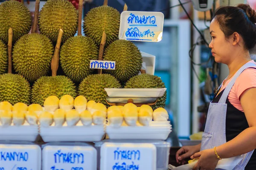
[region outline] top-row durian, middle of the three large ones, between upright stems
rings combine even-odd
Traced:
[[[57,42],[59,29],[62,28],[61,42],[76,34],[78,27],[78,11],[68,0],[47,0],[38,17],[41,34],[52,42]]]

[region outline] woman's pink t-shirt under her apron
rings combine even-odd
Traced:
[[[253,60],[249,61],[251,63],[255,63]],[[256,67],[255,67],[256,68]],[[232,77],[233,78],[233,77]],[[232,79],[231,78],[231,79]],[[229,79],[225,85],[221,88],[221,91],[223,91],[224,88],[227,87],[228,83],[231,81]],[[240,96],[241,94],[247,90],[248,88],[256,87],[256,69],[254,68],[247,68],[245,69],[239,77],[236,79],[235,84],[230,90],[230,93],[228,94],[228,100],[229,102],[237,108],[239,111],[244,112],[241,102],[240,102]]]

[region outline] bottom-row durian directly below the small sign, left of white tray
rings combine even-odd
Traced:
[[[103,103],[106,107],[107,92],[104,88],[121,88],[121,84],[110,74],[93,74],[86,77],[79,85],[79,94],[87,100]]]

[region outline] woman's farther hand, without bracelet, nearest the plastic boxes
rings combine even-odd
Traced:
[[[186,161],[184,159],[189,158],[194,153],[200,151],[201,144],[194,146],[183,146],[176,152],[176,161],[179,164],[185,164]]]

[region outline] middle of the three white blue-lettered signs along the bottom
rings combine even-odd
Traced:
[[[42,170],[96,170],[96,149],[90,146],[46,146]]]

